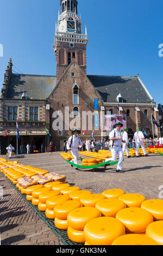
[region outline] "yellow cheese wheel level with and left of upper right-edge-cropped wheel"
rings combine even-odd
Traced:
[[[117,198],[107,198],[97,202],[95,207],[103,216],[115,217],[118,211],[126,208],[126,204]]]

